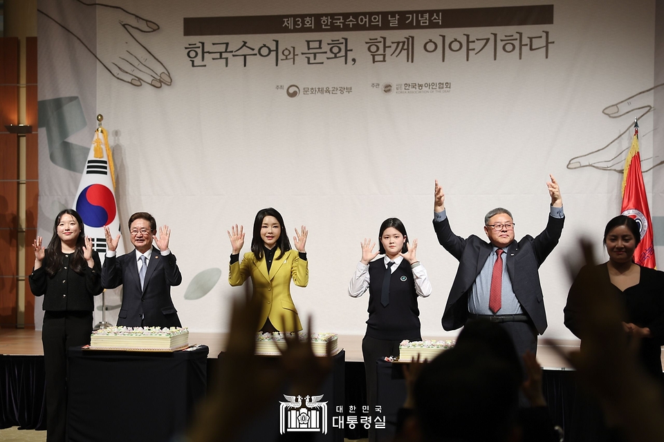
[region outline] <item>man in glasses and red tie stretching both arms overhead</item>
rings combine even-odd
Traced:
[[[469,319],[499,323],[512,337],[517,352],[537,354],[537,334],[546,329],[546,312],[538,269],[560,239],[564,224],[562,197],[553,175],[547,183],[551,210],[546,228],[536,238],[514,238],[512,213],[498,207],[486,214],[484,233],[454,235],[445,211],[445,194],[436,180],[434,230],[441,245],[459,260],[443,329],[454,330]]]

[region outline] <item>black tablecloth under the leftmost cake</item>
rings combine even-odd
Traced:
[[[69,349],[71,442],[164,442],[205,397],[208,347],[193,351]]]

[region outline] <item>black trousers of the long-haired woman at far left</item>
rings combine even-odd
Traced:
[[[66,441],[67,349],[90,343],[92,311],[45,311],[46,441]]]

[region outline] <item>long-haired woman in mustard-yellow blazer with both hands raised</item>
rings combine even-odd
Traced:
[[[309,270],[306,261],[306,227],[295,229],[295,250],[286,234],[284,218],[272,207],[261,209],[254,220],[254,236],[251,251],[244,254],[242,262],[239,254],[244,245],[243,227],[237,224],[228,231],[232,246],[228,282],[232,286],[242,285],[251,278],[254,298],[261,301],[259,331],[297,332],[302,330],[297,309],[291,298],[291,279],[298,287],[306,287]]]

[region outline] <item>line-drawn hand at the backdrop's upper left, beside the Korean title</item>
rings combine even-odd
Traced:
[[[97,8],[97,33],[102,38],[98,39],[98,43],[89,41],[91,45],[97,44],[96,50],[92,50],[80,37],[84,35],[80,29],[77,29],[77,26],[82,26],[80,23],[74,23],[75,20],[68,23],[66,17],[58,17],[57,10],[48,10],[48,3],[44,3],[38,12],[55,21],[80,41],[113,77],[133,86],[142,86],[147,83],[155,88],[160,88],[162,85],[170,86],[172,84],[168,69],[132,33],[132,29],[140,32],[154,32],[159,29],[157,23],[139,17],[119,6],[82,0],[71,0],[71,2],[73,5],[78,4],[81,7]],[[117,30],[118,26],[122,26],[123,29]]]

